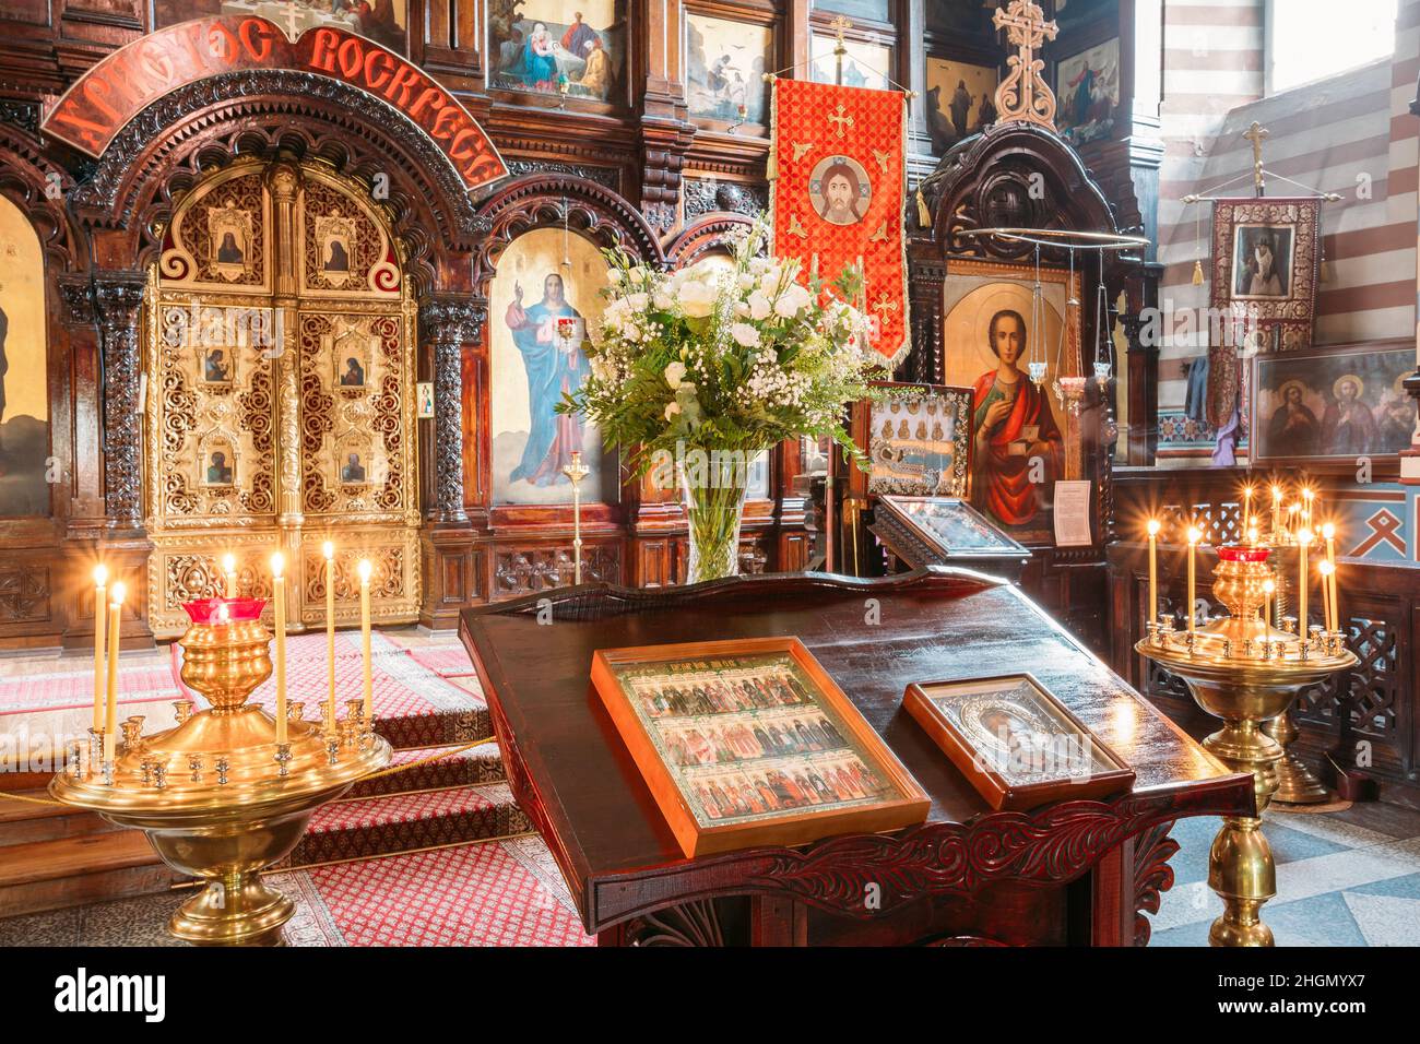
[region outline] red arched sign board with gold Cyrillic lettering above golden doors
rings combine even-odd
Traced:
[[[423,128],[470,192],[508,173],[463,104],[393,51],[328,26],[291,43],[266,18],[246,16],[196,18],[121,47],[64,92],[41,129],[98,156],[165,94],[206,77],[267,68],[314,72],[383,98]]]

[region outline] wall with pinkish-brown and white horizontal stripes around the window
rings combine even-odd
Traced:
[[[1285,14],[1285,6],[1275,6]],[[1265,0],[1164,6],[1164,162],[1160,170],[1160,301],[1176,311],[1208,304],[1207,280],[1193,286],[1194,261],[1208,266],[1206,203],[1183,196],[1251,195],[1252,151],[1244,134],[1268,128],[1264,162],[1278,175],[1269,195],[1295,185],[1336,192],[1323,206],[1322,284],[1316,344],[1410,337],[1416,332],[1416,219],[1420,118],[1410,114],[1420,74],[1420,0],[1400,0],[1394,55],[1358,70],[1264,97]],[[1325,31],[1323,26],[1318,27]],[[1207,332],[1166,331],[1160,352],[1160,459],[1197,457],[1211,439],[1183,419],[1184,364],[1206,351]],[[1206,457],[1206,453],[1201,453]]]

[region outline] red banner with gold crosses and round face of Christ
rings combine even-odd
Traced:
[[[903,193],[906,97],[807,80],[774,81],[774,253],[816,260],[825,280],[863,261],[873,347],[910,348]]]

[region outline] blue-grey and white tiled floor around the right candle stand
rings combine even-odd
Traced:
[[[1216,818],[1174,825],[1173,889],[1152,946],[1207,946],[1223,902],[1208,888]],[[1268,810],[1277,898],[1262,908],[1278,946],[1420,946],[1420,812],[1355,805],[1338,812]]]

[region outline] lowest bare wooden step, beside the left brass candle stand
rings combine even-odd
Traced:
[[[180,881],[136,830],[0,848],[0,918],[160,892]]]

